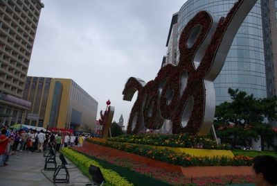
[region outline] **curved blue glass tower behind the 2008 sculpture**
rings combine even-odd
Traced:
[[[178,13],[178,37],[194,15],[208,10],[213,15],[226,17],[235,0],[188,0]],[[256,98],[267,97],[265,54],[262,33],[260,0],[244,20],[226,58],[222,71],[215,80],[217,105],[230,101],[229,87],[253,94]]]

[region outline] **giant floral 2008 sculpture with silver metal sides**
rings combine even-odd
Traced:
[[[215,115],[213,81],[220,74],[233,38],[257,0],[239,0],[226,17],[198,12],[179,38],[179,64],[166,65],[147,84],[131,77],[123,99],[137,99],[129,116],[127,133],[159,129],[172,121],[172,133],[207,135]]]

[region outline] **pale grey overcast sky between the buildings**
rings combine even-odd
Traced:
[[[28,76],[71,78],[98,101],[107,99],[127,124],[132,102],[123,101],[131,76],[148,82],[166,55],[172,14],[186,0],[42,0]]]

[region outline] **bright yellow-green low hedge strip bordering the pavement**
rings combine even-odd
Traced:
[[[87,156],[77,153],[71,149],[63,148],[61,152],[66,158],[68,158],[73,164],[81,164],[80,169],[89,178],[89,166],[93,164],[96,167],[99,167],[107,184],[106,185],[133,185],[129,183],[125,178],[122,178],[115,171],[110,169],[104,169],[98,162],[87,158]]]

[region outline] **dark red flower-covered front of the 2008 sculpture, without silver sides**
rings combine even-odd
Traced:
[[[180,58],[179,64],[162,67],[154,81],[148,82],[144,87],[136,78],[129,78],[123,90],[123,99],[126,99],[128,90],[139,91],[138,97],[132,108],[127,133],[143,133],[146,128],[159,129],[164,119],[172,121],[172,133],[190,133],[199,135],[205,116],[206,88],[204,79],[211,70],[215,54],[222,42],[222,37],[228,28],[233,15],[242,3],[239,0],[230,10],[226,18],[222,17],[217,24],[210,43],[202,49],[209,31],[213,26],[213,19],[206,11],[198,12],[188,22],[179,39]],[[195,42],[191,43],[190,35],[195,28],[200,31]],[[192,46],[188,47],[188,43]],[[205,46],[205,44],[204,44]],[[195,68],[195,56],[204,53],[204,56]],[[201,55],[200,54],[200,55]],[[186,74],[186,88],[181,87],[182,74]],[[182,89],[183,88],[183,89]],[[184,90],[181,92],[181,90]],[[187,103],[192,101],[187,123],[182,125],[182,116]],[[187,112],[187,110],[186,110]],[[202,135],[200,133],[200,135]]]

